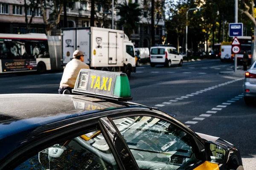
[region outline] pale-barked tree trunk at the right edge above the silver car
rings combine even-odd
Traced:
[[[248,5],[247,5],[248,4]],[[250,20],[253,22],[254,26],[254,37],[256,36],[256,20],[255,20],[255,14],[254,14],[254,0],[243,0],[242,5],[240,7],[240,11],[243,12],[247,17],[250,18]],[[251,6],[251,7],[250,7]],[[254,48],[253,48],[253,57],[252,57],[252,63],[256,60],[256,42],[254,41]]]

